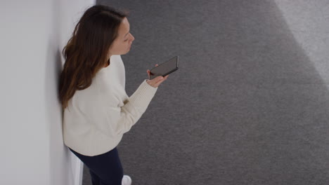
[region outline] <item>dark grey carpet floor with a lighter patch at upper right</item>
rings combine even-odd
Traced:
[[[130,10],[128,95],[180,59],[117,146],[134,185],[328,184],[329,2],[294,2],[98,1]]]

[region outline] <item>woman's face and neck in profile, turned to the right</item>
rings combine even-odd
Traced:
[[[134,36],[130,33],[130,25],[127,18],[124,18],[118,29],[118,36],[113,41],[109,55],[124,55],[129,52]]]

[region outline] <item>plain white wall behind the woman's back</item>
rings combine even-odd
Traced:
[[[63,144],[61,50],[93,0],[0,1],[0,184],[81,184]]]

